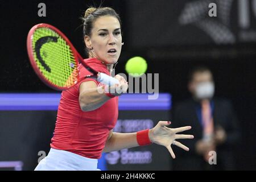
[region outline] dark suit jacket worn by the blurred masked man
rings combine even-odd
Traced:
[[[217,146],[217,164],[210,165],[204,161],[203,156],[198,155],[195,151],[197,140],[203,137],[203,127],[197,117],[197,108],[200,103],[192,98],[180,102],[174,107],[172,113],[172,127],[192,126],[192,129],[185,131],[184,134],[194,135],[194,139],[183,139],[181,143],[189,147],[189,152],[173,146],[176,152],[176,159],[173,161],[173,169],[177,170],[205,170],[205,169],[235,169],[234,164],[234,146],[240,141],[240,132],[236,114],[233,111],[232,104],[223,99],[213,98],[214,110],[213,121],[214,127],[221,126],[227,134],[224,144]]]

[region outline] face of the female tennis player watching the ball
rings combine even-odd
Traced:
[[[120,23],[114,16],[101,16],[93,23],[89,44],[93,54],[106,64],[117,62],[122,48]]]

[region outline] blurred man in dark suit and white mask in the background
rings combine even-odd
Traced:
[[[180,156],[174,160],[173,169],[235,169],[234,146],[239,141],[240,133],[232,104],[213,97],[213,75],[206,67],[191,71],[188,90],[192,98],[174,107],[172,127],[192,126],[195,139],[184,141],[190,149],[189,155],[175,148]],[[216,156],[210,151],[216,151]],[[216,164],[210,164],[209,160]]]

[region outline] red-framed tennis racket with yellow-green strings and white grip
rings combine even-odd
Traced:
[[[118,80],[90,68],[73,47],[68,38],[50,24],[36,24],[28,32],[27,52],[32,68],[39,78],[56,90],[67,90],[87,77],[96,77],[106,85],[118,84]],[[88,75],[79,78],[79,63]]]

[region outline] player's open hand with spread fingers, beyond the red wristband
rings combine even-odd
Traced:
[[[175,154],[174,151],[172,151],[171,144],[183,148],[183,150],[185,151],[189,151],[188,147],[184,146],[184,144],[181,144],[180,142],[177,142],[176,139],[192,139],[194,138],[194,136],[176,134],[182,131],[190,130],[191,126],[178,127],[176,129],[166,127],[170,124],[171,122],[168,121],[159,121],[154,128],[150,129],[148,136],[152,143],[160,144],[166,147],[170,152],[172,158],[175,159]]]

